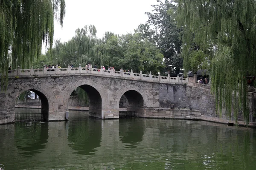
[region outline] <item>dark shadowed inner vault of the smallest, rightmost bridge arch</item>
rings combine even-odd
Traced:
[[[126,91],[120,98],[119,108],[127,108],[128,112],[135,112],[136,116],[141,116],[144,112],[143,96],[135,90]]]

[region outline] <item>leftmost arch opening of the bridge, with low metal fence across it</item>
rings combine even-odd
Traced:
[[[15,108],[15,121],[49,120],[48,99],[38,90],[23,91],[16,99]]]

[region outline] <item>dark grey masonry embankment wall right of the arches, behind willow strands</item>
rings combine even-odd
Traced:
[[[192,111],[200,111],[201,119],[214,121],[214,122],[235,122],[235,117],[231,114],[231,117],[227,115],[225,107],[222,109],[221,116],[218,111],[216,114],[215,109],[215,97],[210,93],[209,85],[172,85],[172,84],[160,84],[160,108],[170,108],[170,105],[174,105],[177,109],[189,109]],[[256,125],[256,97],[254,93],[248,93],[249,105],[250,105],[250,125]],[[244,116],[239,113],[238,121],[244,124]]]

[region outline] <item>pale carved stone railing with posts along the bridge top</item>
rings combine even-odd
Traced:
[[[96,74],[96,75],[105,75],[105,76],[114,76],[114,77],[124,77],[124,78],[131,78],[131,79],[141,79],[141,80],[149,80],[149,81],[158,81],[158,82],[181,82],[181,83],[187,83],[189,82],[188,77],[182,78],[177,75],[177,77],[170,77],[168,76],[161,76],[158,74],[157,76],[151,75],[151,72],[149,74],[142,74],[142,71],[140,73],[134,73],[132,70],[131,72],[124,72],[122,69],[121,71],[114,71],[112,68],[111,70],[104,70],[103,67],[101,68],[85,68],[81,67],[79,64],[79,68],[71,68],[70,65],[68,65],[67,68],[44,68],[41,69],[34,69],[31,66],[31,69],[20,69],[20,67],[17,68],[17,70],[8,70],[8,77],[12,76],[29,76],[29,75],[58,75],[58,74]]]

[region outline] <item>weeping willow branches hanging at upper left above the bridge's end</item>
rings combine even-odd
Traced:
[[[64,15],[64,0],[0,0],[2,83],[10,64],[29,68],[40,57],[42,42],[52,48],[54,20],[62,26]]]

